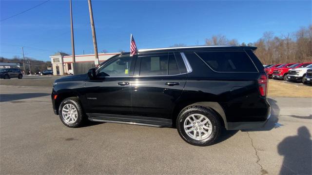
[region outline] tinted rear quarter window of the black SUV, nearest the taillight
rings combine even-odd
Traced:
[[[254,63],[243,51],[196,52],[217,72],[257,72]]]

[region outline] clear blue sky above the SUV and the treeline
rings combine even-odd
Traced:
[[[0,0],[6,19],[45,0]],[[87,0],[73,0],[75,53],[94,53]],[[176,43],[204,45],[213,35],[239,43],[255,42],[264,32],[276,36],[312,24],[312,0],[108,1],[92,0],[98,51],[130,50],[132,33],[138,49]],[[56,52],[71,55],[69,0],[50,0],[0,22],[0,56],[50,60]]]

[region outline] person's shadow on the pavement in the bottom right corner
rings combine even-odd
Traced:
[[[307,127],[298,128],[296,136],[284,138],[277,146],[278,154],[284,156],[281,175],[312,174],[312,140]]]

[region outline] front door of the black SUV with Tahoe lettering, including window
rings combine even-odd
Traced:
[[[86,113],[131,114],[133,59],[129,56],[112,59],[97,69],[95,79],[86,81]]]

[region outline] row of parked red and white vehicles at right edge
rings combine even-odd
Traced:
[[[265,65],[268,78],[311,83],[312,62]]]

